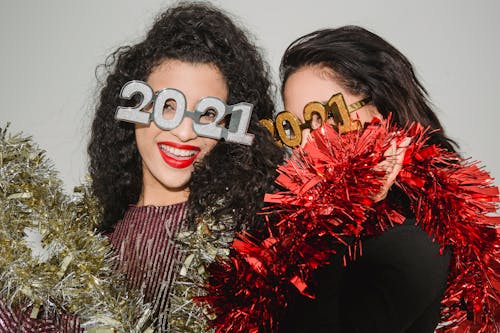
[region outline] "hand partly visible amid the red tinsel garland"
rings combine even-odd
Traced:
[[[385,177],[380,192],[372,198],[375,202],[384,200],[387,197],[387,192],[389,192],[403,167],[406,149],[410,142],[411,138],[407,137],[397,146],[396,141],[392,140],[391,146],[384,152],[386,159],[377,165],[377,169],[385,170]]]

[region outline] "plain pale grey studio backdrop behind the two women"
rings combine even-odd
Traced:
[[[172,1],[0,1],[0,127],[10,122],[11,132],[32,135],[69,192],[86,175],[96,66],[141,39]],[[482,161],[500,183],[499,1],[213,3],[253,34],[276,85],[280,57],[298,36],[346,24],[379,34],[413,63],[464,157]]]

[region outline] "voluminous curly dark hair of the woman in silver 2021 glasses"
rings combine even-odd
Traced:
[[[216,215],[231,214],[240,224],[252,223],[282,160],[281,149],[258,122],[271,118],[274,110],[269,68],[227,14],[207,3],[183,2],[160,14],[143,41],[118,48],[101,66],[107,79],[88,146],[93,191],[104,208],[101,229],[109,230],[121,219],[142,188],[134,125],[114,119],[116,107],[127,103],[120,99],[120,90],[130,80],[146,81],[166,59],[215,65],[227,82],[227,103],[254,105],[248,129],[255,135],[253,145],[220,140],[195,166],[188,199],[190,220],[217,201],[223,204]]]

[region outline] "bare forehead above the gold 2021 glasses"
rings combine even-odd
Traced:
[[[304,106],[313,101],[326,102],[333,94],[342,92],[333,71],[324,66],[301,67],[291,74],[283,89],[285,109],[302,117]]]

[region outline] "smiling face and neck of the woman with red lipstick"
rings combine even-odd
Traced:
[[[218,97],[224,102],[228,97],[222,73],[210,64],[167,59],[153,69],[147,83],[155,92],[164,88],[180,90],[186,97],[186,110],[189,111],[194,110],[203,97]],[[167,101],[164,116],[175,112],[175,107],[173,101]],[[217,143],[215,139],[198,136],[189,117],[184,117],[181,124],[170,131],[158,128],[154,122],[137,124],[135,136],[142,157],[143,188],[139,204],[143,205],[186,200],[194,164]]]

